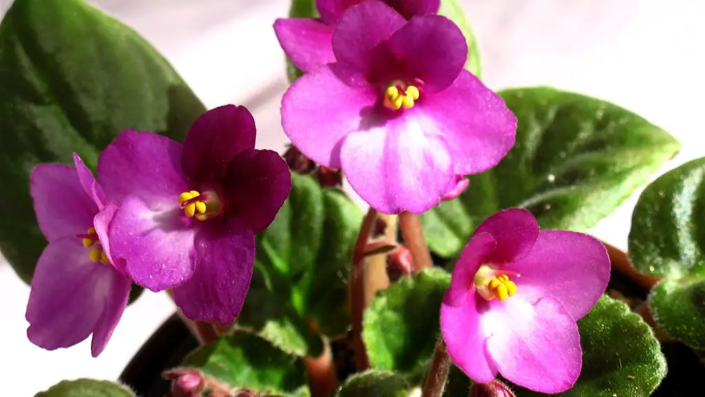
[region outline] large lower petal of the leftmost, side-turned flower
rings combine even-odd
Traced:
[[[92,333],[103,316],[111,266],[94,263],[76,237],[50,242],[37,262],[25,314],[27,338],[47,349],[68,348]]]

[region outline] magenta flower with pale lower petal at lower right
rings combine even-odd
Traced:
[[[541,393],[570,389],[582,367],[575,321],[607,287],[596,239],[541,230],[529,211],[487,218],[462,251],[441,306],[450,358],[468,377],[497,374]]]

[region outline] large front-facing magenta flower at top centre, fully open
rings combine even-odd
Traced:
[[[341,16],[333,52],[336,63],[288,89],[282,125],[376,210],[427,211],[455,175],[487,170],[513,146],[516,118],[463,69],[465,37],[448,18],[407,21],[365,1]]]

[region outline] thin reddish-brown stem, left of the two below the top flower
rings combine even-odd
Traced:
[[[350,314],[353,320],[353,347],[357,359],[357,371],[364,371],[369,368],[367,352],[364,350],[362,342],[362,313],[364,312],[364,273],[367,240],[374,230],[374,223],[377,219],[377,211],[370,207],[362,220],[360,234],[357,235],[355,248],[353,249],[353,262],[350,264]]]

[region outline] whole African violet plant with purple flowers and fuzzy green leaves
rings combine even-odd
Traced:
[[[32,343],[92,335],[97,357],[147,288],[202,344],[164,372],[173,396],[650,396],[701,374],[705,159],[646,187],[627,257],[584,232],[678,152],[665,131],[553,88],[494,93],[455,0],[290,16],[280,156],[116,20],[15,1],[0,247],[31,282]]]

